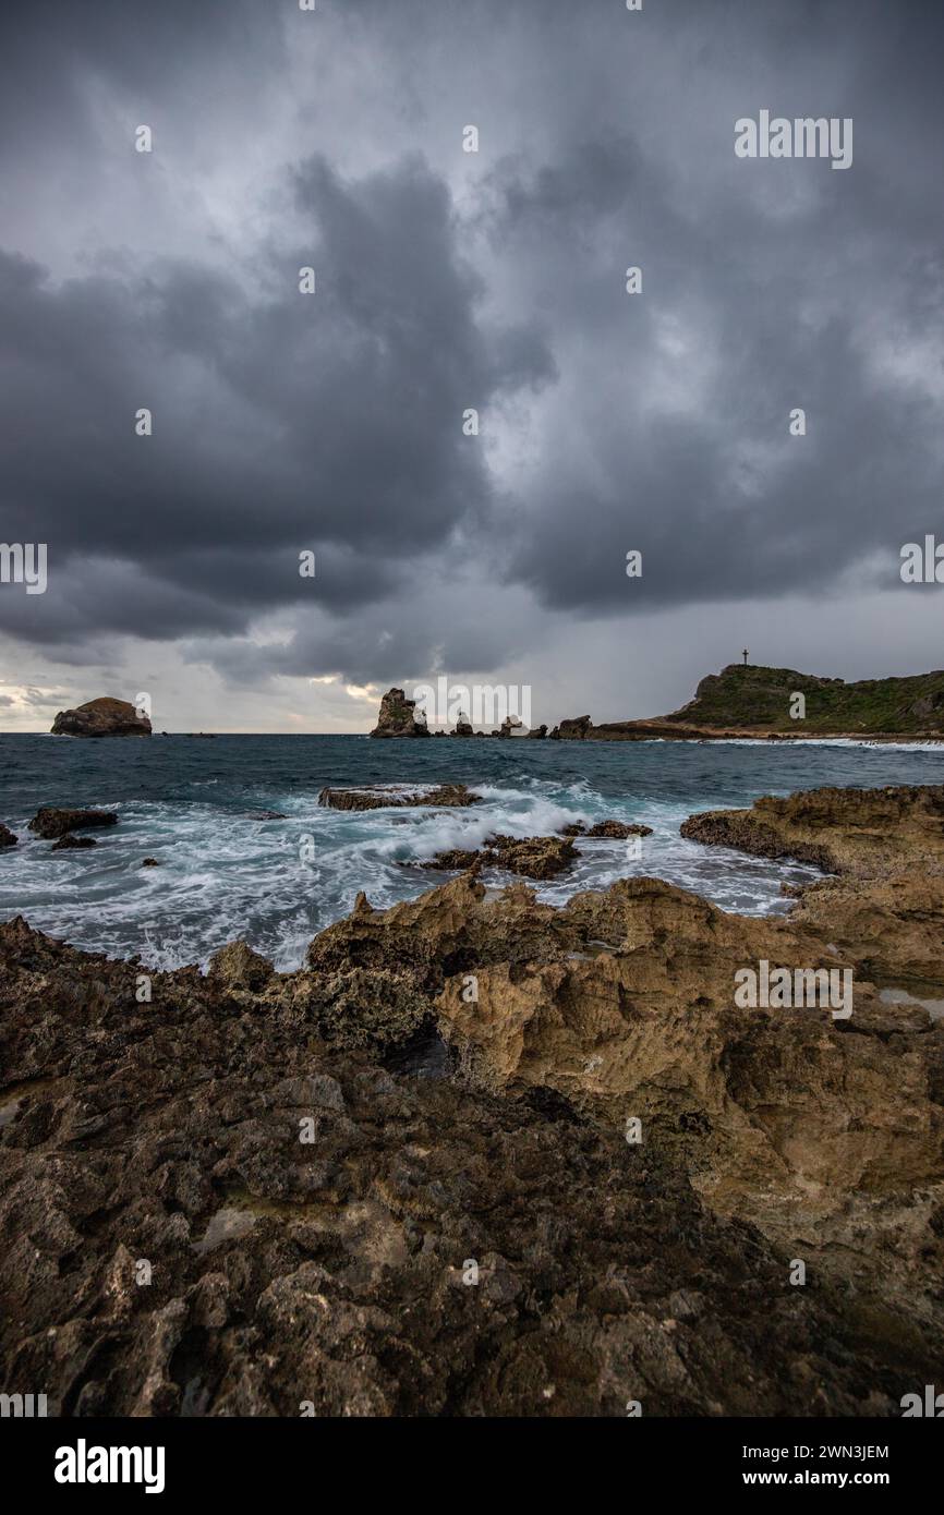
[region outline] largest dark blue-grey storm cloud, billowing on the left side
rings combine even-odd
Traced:
[[[24,635],[238,630],[311,603],[305,548],[318,603],[358,606],[488,517],[462,412],[549,374],[541,339],[479,326],[449,194],[420,159],[358,185],[309,161],[294,189],[312,239],[282,247],[264,292],[198,265],[56,288],[0,258],[5,530],[48,542],[52,564],[48,594],[18,608]],[[153,436],[135,435],[139,406]],[[92,592],[108,568],[77,558],[135,568]]]

